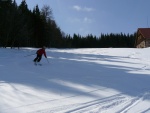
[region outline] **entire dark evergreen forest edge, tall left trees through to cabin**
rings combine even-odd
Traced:
[[[99,48],[134,47],[136,34],[65,35],[50,6],[28,9],[25,0],[0,0],[0,47]]]

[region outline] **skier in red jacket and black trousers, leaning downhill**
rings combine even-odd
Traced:
[[[36,58],[33,60],[35,63],[36,62],[40,62],[40,60],[42,59],[42,55],[44,54],[45,58],[47,58],[46,56],[46,52],[45,52],[46,47],[43,46],[41,49],[37,50],[36,54]]]

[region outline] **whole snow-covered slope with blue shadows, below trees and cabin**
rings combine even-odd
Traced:
[[[150,113],[150,48],[36,50],[0,48],[0,113]]]

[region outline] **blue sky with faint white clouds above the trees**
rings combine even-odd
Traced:
[[[16,0],[19,5],[22,0]],[[150,27],[150,0],[26,0],[29,9],[49,5],[66,34],[129,33]]]

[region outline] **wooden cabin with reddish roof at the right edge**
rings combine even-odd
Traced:
[[[135,40],[136,48],[150,47],[150,28],[139,28]]]

